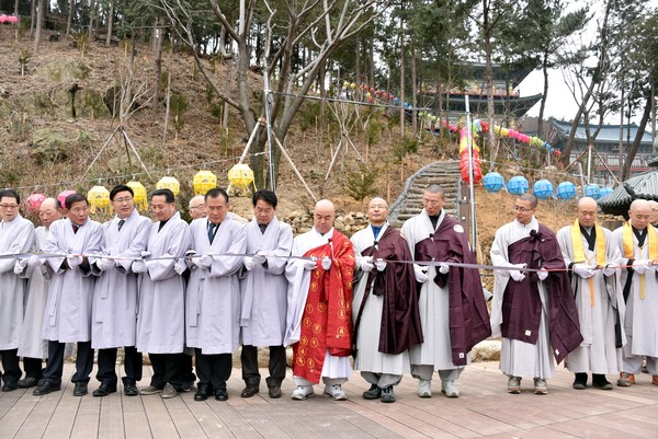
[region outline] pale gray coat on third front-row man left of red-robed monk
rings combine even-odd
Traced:
[[[147,273],[139,275],[137,350],[180,354],[185,343],[185,289],[175,273],[175,261],[190,249],[189,226],[179,212],[164,223],[151,224],[145,258]]]

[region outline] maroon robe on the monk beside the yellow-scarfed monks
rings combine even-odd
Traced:
[[[555,233],[544,224],[540,231],[508,247],[511,264],[527,264],[527,268],[564,269],[565,261]],[[510,280],[502,297],[502,336],[536,344],[540,332],[542,301],[536,272],[529,272],[521,281]],[[574,292],[567,272],[549,272],[544,280],[548,297],[548,331],[556,361],[559,363],[580,346],[580,324]]]

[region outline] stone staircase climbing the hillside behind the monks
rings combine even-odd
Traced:
[[[444,209],[449,215],[455,216],[460,178],[460,162],[457,160],[434,162],[421,167],[416,174],[407,178],[402,194],[390,206],[388,222],[393,227],[400,228],[407,219],[420,213],[424,188],[432,183],[439,184],[445,189]]]

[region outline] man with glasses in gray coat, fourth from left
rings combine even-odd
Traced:
[[[136,396],[141,380],[141,353],[135,347],[137,327],[137,276],[133,261],[141,257],[150,233],[150,219],[135,208],[133,189],[118,185],[110,192],[114,218],[103,224],[103,251],[92,268],[100,275],[93,291],[91,347],[99,349],[94,396],[116,392],[116,353],[124,348],[124,393]]]

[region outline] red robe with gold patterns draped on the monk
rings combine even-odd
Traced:
[[[327,244],[304,256],[317,257],[318,266],[310,274],[299,342],[293,345],[293,373],[319,383],[327,350],[336,357],[352,355],[354,250],[352,242],[334,229]],[[322,257],[331,258],[328,272],[321,267]]]

